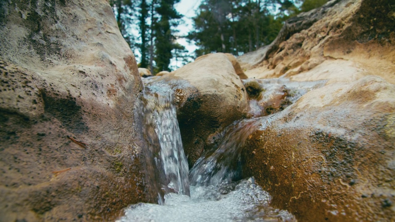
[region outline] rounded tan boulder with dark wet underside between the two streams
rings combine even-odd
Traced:
[[[210,149],[216,134],[246,115],[245,88],[223,53],[199,58],[159,81],[173,85],[179,107],[177,119],[190,167],[203,150]]]

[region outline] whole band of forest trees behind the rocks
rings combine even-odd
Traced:
[[[273,41],[287,19],[322,6],[327,0],[202,0],[186,36],[177,33],[183,15],[180,0],[111,0],[122,36],[135,53],[139,67],[153,73],[172,71],[171,59],[184,65],[208,53],[235,56]],[[190,53],[177,39],[198,48]]]

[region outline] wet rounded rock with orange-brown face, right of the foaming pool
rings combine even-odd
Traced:
[[[312,90],[258,119],[243,177],[300,221],[393,221],[394,113],[395,85],[380,77]]]

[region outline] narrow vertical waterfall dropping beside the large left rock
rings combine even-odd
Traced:
[[[182,147],[176,107],[172,102],[172,91],[168,85],[149,85],[145,88],[145,124],[151,129],[147,137],[151,141],[157,139],[159,143],[160,149],[153,150],[158,152],[156,166],[164,173],[162,189],[165,193],[190,195],[188,162]]]

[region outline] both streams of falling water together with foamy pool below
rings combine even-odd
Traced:
[[[242,129],[259,121],[244,120],[230,126],[219,149],[195,164],[190,173],[192,186],[189,186],[188,164],[171,89],[149,79],[145,84],[145,134],[156,167],[163,172],[159,180],[164,201],[159,201],[160,205],[131,205],[119,222],[295,221],[287,211],[269,206],[271,197],[255,184],[254,178],[232,181],[240,179],[240,169],[231,164],[239,161],[240,147],[249,134]]]

